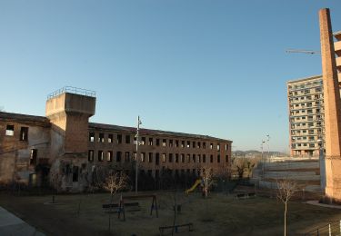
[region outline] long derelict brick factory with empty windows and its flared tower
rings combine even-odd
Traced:
[[[48,96],[45,117],[0,113],[0,182],[82,191],[96,168],[131,170],[136,128],[89,123],[94,114],[95,92],[72,87]],[[155,178],[165,169],[172,175],[196,175],[204,166],[226,172],[231,143],[206,135],[140,129],[139,171]]]

